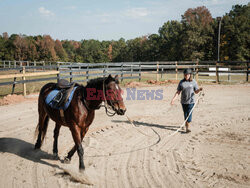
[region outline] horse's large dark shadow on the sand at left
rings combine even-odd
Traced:
[[[0,138],[0,153],[11,153],[29,161],[59,168],[43,159],[55,160],[52,154],[42,150],[34,150],[34,145],[17,138]]]

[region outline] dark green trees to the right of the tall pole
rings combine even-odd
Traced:
[[[222,59],[250,59],[250,3],[235,5],[222,20]]]

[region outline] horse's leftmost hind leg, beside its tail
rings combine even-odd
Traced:
[[[38,120],[38,125],[37,125],[38,137],[37,137],[37,141],[35,144],[35,149],[41,148],[44,137],[47,132],[48,123],[49,123],[49,116],[46,113],[42,113],[42,114],[39,113],[39,120]]]

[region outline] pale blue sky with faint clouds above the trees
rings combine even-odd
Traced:
[[[0,34],[50,35],[59,40],[126,40],[158,33],[188,8],[223,16],[248,0],[0,0]]]

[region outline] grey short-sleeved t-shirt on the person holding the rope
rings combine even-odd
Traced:
[[[198,85],[195,80],[181,80],[177,90],[181,91],[181,104],[193,104],[195,102],[194,91],[198,90]]]

